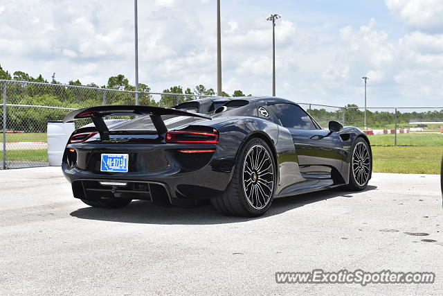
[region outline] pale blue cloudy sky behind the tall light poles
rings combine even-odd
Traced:
[[[215,0],[138,0],[139,82],[217,88]],[[299,103],[443,105],[443,0],[221,0],[223,90]],[[0,64],[10,73],[134,85],[134,1],[0,0]]]

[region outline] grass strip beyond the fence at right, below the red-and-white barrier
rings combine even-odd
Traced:
[[[372,146],[394,146],[395,134],[368,136]],[[398,146],[443,146],[443,134],[397,134]]]

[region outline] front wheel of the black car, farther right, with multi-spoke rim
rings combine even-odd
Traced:
[[[351,191],[361,191],[368,186],[372,175],[372,153],[368,142],[359,137],[349,154],[349,184]]]

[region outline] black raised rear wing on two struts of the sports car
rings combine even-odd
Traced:
[[[109,140],[109,130],[103,117],[105,116],[134,116],[134,115],[150,115],[152,123],[159,134],[164,134],[168,131],[161,115],[177,115],[177,116],[192,116],[200,117],[202,119],[211,119],[210,116],[190,113],[172,108],[162,108],[153,106],[138,106],[138,105],[105,105],[96,107],[87,107],[64,116],[63,122],[74,121],[77,119],[91,118],[94,125],[100,133],[100,139]]]

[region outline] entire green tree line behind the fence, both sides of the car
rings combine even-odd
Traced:
[[[23,71],[8,73],[1,69],[0,79],[30,81],[49,83],[42,75],[33,78]],[[54,85],[34,85],[28,83],[8,83],[7,103],[19,105],[43,105],[53,107],[90,107],[95,105],[133,105],[135,103],[135,87],[129,84],[129,80],[123,75],[111,76],[107,85],[101,87],[95,83],[83,85],[80,80],[70,80],[66,87],[55,80],[53,76],[51,83]],[[78,87],[76,87],[78,86]],[[83,88],[80,86],[92,87]],[[2,85],[0,85],[0,89]],[[132,91],[132,92],[123,92]],[[164,89],[162,94],[152,94],[151,88],[143,83],[139,84],[140,105],[154,105],[159,107],[172,107],[185,101],[195,100],[204,96],[214,96],[215,91],[204,85],[197,85],[194,89],[184,89],[180,85]],[[179,94],[179,95],[177,95]],[[183,94],[183,96],[180,96]],[[223,92],[224,96],[230,96]],[[186,95],[186,96],[185,96]],[[245,96],[241,90],[236,90],[233,97]],[[251,96],[251,95],[249,95]],[[305,106],[303,106],[305,107]],[[308,108],[307,108],[308,109]],[[364,112],[357,105],[349,104],[346,108],[336,110],[325,110],[316,108],[307,110],[322,125],[327,127],[331,120],[344,122],[345,125],[354,125],[363,128]],[[8,130],[24,130],[26,132],[43,131],[47,121],[60,120],[69,110],[54,110],[35,107],[8,107],[7,123]],[[0,122],[3,121],[3,112],[0,112]],[[397,115],[393,110],[368,109],[366,112],[367,125],[370,128],[395,128],[397,116],[397,127],[414,126],[410,121],[443,121],[443,110],[426,110],[423,112],[404,112],[399,110]]]

